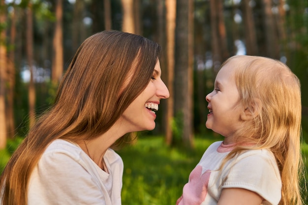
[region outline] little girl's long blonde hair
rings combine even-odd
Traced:
[[[234,56],[221,67],[231,62],[235,66],[240,102],[256,117],[244,120],[242,128],[235,133],[236,142],[255,146],[238,146],[228,158],[246,149],[270,149],[282,180],[279,205],[302,205],[299,186],[303,174],[300,81],[278,60]]]

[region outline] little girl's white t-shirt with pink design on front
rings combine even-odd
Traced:
[[[215,142],[205,151],[189,175],[177,205],[217,205],[223,188],[243,188],[259,194],[262,205],[278,205],[281,178],[273,153],[247,150],[227,161],[217,171],[234,145]]]

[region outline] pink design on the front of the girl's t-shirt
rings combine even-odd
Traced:
[[[208,194],[208,185],[211,172],[202,174],[202,166],[197,166],[189,175],[189,181],[183,188],[183,195],[176,205],[200,205]]]

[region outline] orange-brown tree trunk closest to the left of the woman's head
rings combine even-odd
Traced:
[[[62,33],[62,0],[56,1],[56,25],[55,35],[53,40],[53,67],[52,67],[52,82],[58,85],[63,74],[63,33]]]

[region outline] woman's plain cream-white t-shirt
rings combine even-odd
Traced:
[[[104,155],[109,174],[77,145],[55,140],[42,154],[28,186],[28,205],[121,205],[123,161]]]

